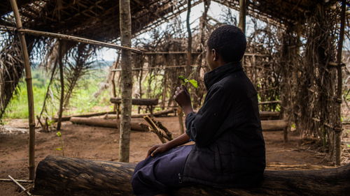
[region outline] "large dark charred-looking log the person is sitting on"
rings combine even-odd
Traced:
[[[36,169],[35,195],[133,195],[134,163],[48,156]],[[257,188],[188,186],[172,195],[349,195],[350,164],[334,169],[265,171]]]

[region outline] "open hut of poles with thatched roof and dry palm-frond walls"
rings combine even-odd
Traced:
[[[349,2],[212,1],[240,10],[242,28],[245,15],[268,24],[267,28],[258,29],[248,38],[248,50],[243,62],[248,77],[258,90],[260,102],[266,103],[260,109],[279,111],[287,127],[295,126],[304,137],[317,137],[323,150],[328,152],[329,160],[339,165],[344,66],[341,56],[344,29],[349,29],[349,23],[345,22],[349,22]],[[204,10],[208,9],[210,0],[130,0],[132,36],[151,31],[202,2]],[[0,117],[24,75],[25,64],[17,37],[19,33],[25,33],[29,56],[42,54],[43,64],[52,70],[52,75],[58,70],[55,62],[59,64],[68,54],[76,54],[76,63],[84,65],[96,47],[122,48],[111,44],[120,38],[118,1],[18,0],[17,3],[24,30],[16,28],[10,1],[0,2],[0,30],[7,36],[0,44]],[[214,19],[204,11],[200,33],[196,35],[197,38],[194,36],[196,40],[193,42],[205,44],[210,20]],[[139,81],[134,84],[139,86],[134,97],[160,98],[160,105],[165,108],[173,106],[172,87],[176,85],[177,75],[188,74],[185,68],[190,66],[190,72],[197,73],[194,77],[200,80],[206,68],[203,47],[190,48],[189,57],[184,50],[188,47],[184,40],[172,44],[166,43],[165,38],[160,40],[162,43],[158,43],[159,47],[150,45],[127,50],[133,52],[133,75]],[[42,45],[45,45],[45,51],[40,51]],[[188,59],[191,60],[188,62]],[[113,81],[120,70],[117,65],[118,61],[113,65]],[[164,84],[161,90],[154,91],[151,83],[146,91],[142,89],[141,82],[146,78],[144,75],[156,74],[164,76],[160,81]],[[116,86],[118,89],[118,82]],[[195,97],[195,105],[199,106],[203,100],[204,86],[200,85],[198,91],[191,93]]]

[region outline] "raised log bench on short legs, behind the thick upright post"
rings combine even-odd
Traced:
[[[116,104],[117,118],[119,119],[120,104],[122,103],[122,99],[111,98],[110,101],[111,103]],[[153,116],[154,107],[155,105],[158,105],[158,98],[133,98],[132,105],[146,105],[147,110],[151,113],[151,116]]]

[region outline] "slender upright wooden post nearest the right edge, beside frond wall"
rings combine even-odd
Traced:
[[[336,120],[337,126],[335,128],[335,165],[340,165],[341,158],[341,148],[340,142],[342,137],[342,67],[340,63],[342,63],[342,48],[343,48],[343,40],[344,40],[344,26],[345,26],[345,10],[346,10],[346,0],[342,1],[342,13],[340,16],[340,33],[339,33],[339,43],[337,50],[337,106],[336,106]]]

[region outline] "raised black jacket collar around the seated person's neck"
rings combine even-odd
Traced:
[[[205,73],[204,84],[207,87],[207,90],[209,90],[213,84],[222,80],[227,75],[239,70],[243,70],[241,67],[241,62],[231,62]]]

